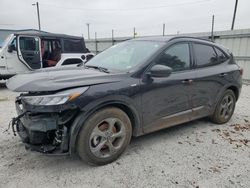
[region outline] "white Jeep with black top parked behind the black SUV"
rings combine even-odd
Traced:
[[[93,55],[81,37],[17,32],[0,48],[0,79],[50,66],[77,65]]]

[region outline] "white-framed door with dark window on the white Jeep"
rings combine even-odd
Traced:
[[[40,38],[34,36],[18,36],[18,57],[30,69],[42,68]]]

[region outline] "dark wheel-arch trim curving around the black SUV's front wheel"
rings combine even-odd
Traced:
[[[70,142],[69,142],[69,153],[73,154],[76,152],[76,141],[78,133],[82,127],[82,124],[97,110],[104,108],[106,106],[116,106],[123,105],[126,106],[130,110],[134,118],[134,127],[133,127],[133,136],[140,136],[143,134],[142,129],[142,116],[141,113],[138,112],[137,108],[132,105],[134,101],[126,96],[108,96],[105,98],[98,99],[85,107],[83,107],[78,116],[75,118],[74,122],[70,128]]]

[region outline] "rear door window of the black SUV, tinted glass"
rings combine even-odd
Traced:
[[[218,63],[217,54],[212,46],[194,44],[197,67],[204,67]]]

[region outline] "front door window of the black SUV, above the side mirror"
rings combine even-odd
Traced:
[[[158,65],[166,65],[173,71],[182,71],[190,67],[190,54],[188,43],[179,43],[169,47],[156,60]]]

